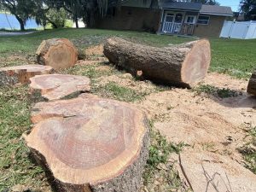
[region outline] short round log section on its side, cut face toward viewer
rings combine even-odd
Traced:
[[[44,40],[36,54],[39,64],[55,69],[73,67],[78,60],[78,50],[67,38]]]

